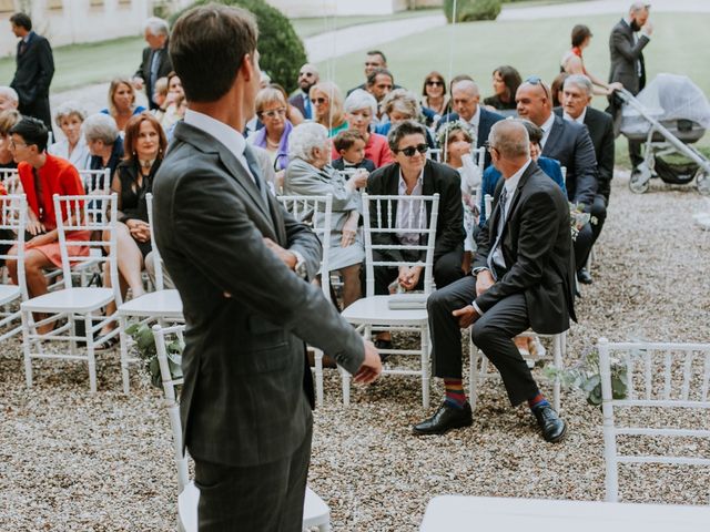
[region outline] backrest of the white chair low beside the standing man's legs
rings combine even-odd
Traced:
[[[184,325],[175,325],[172,327],[153,326],[153,338],[155,339],[155,352],[158,355],[158,365],[160,366],[160,376],[163,382],[163,396],[165,398],[165,408],[170,416],[170,428],[173,432],[173,450],[175,458],[175,467],[178,468],[178,488],[179,493],[187,485],[187,457],[182,451],[182,424],[180,421],[180,401],[175,395],[175,386],[183,383],[182,378],[174,379],[170,369],[171,364],[180,367],[180,357],[169,352],[169,344],[165,341],[166,336],[174,336],[181,347],[184,347],[183,332]],[[172,345],[172,341],[171,341]],[[181,349],[182,351],[182,349]]]

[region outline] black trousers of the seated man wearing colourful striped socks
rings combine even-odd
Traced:
[[[452,313],[476,298],[471,275],[437,289],[427,300],[434,376],[460,379],[462,332]],[[538,387],[513,338],[530,327],[523,294],[514,294],[489,308],[473,325],[474,344],[500,372],[513,406],[532,399]]]

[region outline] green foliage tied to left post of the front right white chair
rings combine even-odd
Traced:
[[[549,380],[559,378],[565,388],[576,388],[587,398],[587,402],[594,407],[601,405],[601,376],[599,370],[599,354],[591,351],[581,358],[577,366],[569,369],[560,369],[555,366],[545,368],[545,377]],[[611,396],[615,399],[627,397],[628,376],[627,367],[620,361],[611,362]]]

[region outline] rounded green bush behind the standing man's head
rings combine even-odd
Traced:
[[[202,6],[214,0],[199,0],[191,6]],[[235,6],[251,11],[258,23],[260,65],[274,83],[286,92],[297,89],[298,70],[307,61],[303,41],[296,34],[291,21],[276,8],[264,0],[216,0],[217,3]],[[191,9],[187,8],[187,9]],[[171,18],[174,23],[185,10]]]

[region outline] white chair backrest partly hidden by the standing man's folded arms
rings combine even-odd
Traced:
[[[321,262],[321,288],[327,299],[331,299],[331,276],[328,267],[328,252],[331,249],[331,223],[333,214],[333,195],[325,196],[277,196],[278,202],[297,221],[307,224],[318,235],[323,245],[323,260]],[[316,214],[322,213],[322,214]]]

